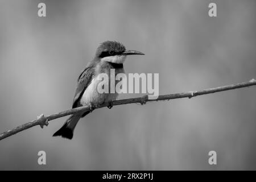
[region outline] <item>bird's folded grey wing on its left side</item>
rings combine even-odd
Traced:
[[[73,99],[72,108],[75,108],[78,106],[80,98],[84,93],[84,90],[88,87],[88,85],[92,81],[93,75],[94,75],[94,68],[92,66],[86,67],[84,71],[82,71],[82,73],[80,74],[79,78],[77,79],[76,93]]]

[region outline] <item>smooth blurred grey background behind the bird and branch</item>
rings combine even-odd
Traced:
[[[159,73],[159,94],[256,78],[253,0],[0,2],[0,133],[71,108],[77,77],[105,40],[144,52],[125,71]],[[72,140],[52,137],[67,119],[59,118],[1,140],[0,169],[256,169],[255,91],[97,109]]]

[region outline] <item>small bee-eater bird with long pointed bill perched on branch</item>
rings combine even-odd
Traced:
[[[114,93],[98,93],[97,85],[101,80],[97,79],[97,77],[100,73],[106,73],[110,78],[110,69],[115,69],[115,76],[118,73],[124,73],[123,62],[127,55],[144,55],[144,53],[126,50],[123,44],[115,41],[106,41],[100,44],[94,59],[88,63],[77,79],[72,105],[72,108],[90,105],[91,110],[72,114],[64,125],[53,134],[53,137],[61,136],[72,139],[77,122],[80,118],[89,114],[93,110],[93,106],[104,103],[109,103],[109,109],[113,106],[113,101],[117,99],[118,93],[116,90]],[[117,84],[117,81],[115,81],[115,84]]]

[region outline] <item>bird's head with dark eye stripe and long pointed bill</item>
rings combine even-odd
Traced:
[[[96,51],[96,57],[101,61],[108,61],[116,64],[123,64],[127,55],[144,55],[144,53],[126,50],[123,44],[115,41],[101,43]]]

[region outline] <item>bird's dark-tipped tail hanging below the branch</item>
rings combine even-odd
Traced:
[[[75,130],[76,124],[81,116],[81,113],[72,114],[64,125],[52,135],[52,137],[61,136],[63,138],[72,139],[73,131]]]

